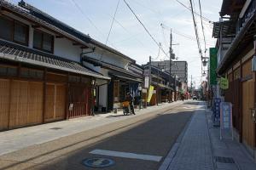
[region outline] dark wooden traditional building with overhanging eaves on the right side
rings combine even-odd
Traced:
[[[247,147],[254,158],[256,157],[256,70],[253,67],[255,11],[256,1],[224,0],[219,13],[220,20],[214,23],[212,35],[218,38],[216,46],[218,77],[226,77],[229,80],[229,88],[219,89],[217,94],[232,103],[236,139]]]

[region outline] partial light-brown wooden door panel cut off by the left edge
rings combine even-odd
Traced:
[[[9,80],[0,79],[0,130],[9,127],[9,88]]]

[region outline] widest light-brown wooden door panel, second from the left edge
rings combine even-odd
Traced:
[[[11,81],[9,127],[42,122],[43,82]]]

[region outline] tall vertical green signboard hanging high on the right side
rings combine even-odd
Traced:
[[[217,48],[210,48],[210,84],[217,85]]]

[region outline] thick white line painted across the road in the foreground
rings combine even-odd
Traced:
[[[90,154],[102,155],[102,156],[116,156],[116,157],[125,157],[131,159],[141,159],[147,161],[160,161],[162,156],[150,156],[143,154],[134,154],[129,152],[121,152],[121,151],[112,151],[112,150],[92,150]]]

